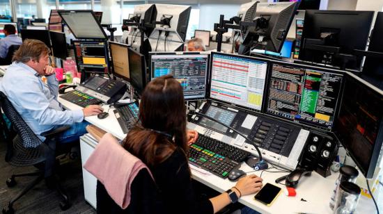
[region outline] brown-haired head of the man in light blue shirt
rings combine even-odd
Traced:
[[[50,50],[40,40],[24,40],[19,49],[13,54],[13,61],[24,63],[43,75],[45,66],[49,65]]]

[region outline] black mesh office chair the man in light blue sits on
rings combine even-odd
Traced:
[[[47,183],[54,184],[58,193],[63,197],[60,203],[61,210],[65,211],[70,208],[71,204],[68,195],[65,194],[60,184],[54,179],[54,169],[57,167],[56,155],[60,148],[56,148],[55,136],[62,131],[68,129],[68,126],[62,126],[53,131],[42,133],[42,136],[47,138],[42,142],[24,122],[22,117],[17,113],[15,108],[8,100],[3,92],[0,92],[0,105],[6,117],[10,120],[12,128],[17,135],[12,140],[7,142],[6,162],[15,166],[30,166],[33,165],[38,168],[37,172],[13,174],[7,179],[6,184],[8,187],[16,185],[15,177],[18,176],[38,176],[26,188],[19,192],[13,199],[8,202],[3,208],[3,213],[14,213],[13,204],[17,199],[26,194],[31,188],[36,186],[40,181],[46,179]]]

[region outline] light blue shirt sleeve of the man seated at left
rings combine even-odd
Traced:
[[[19,106],[17,109],[22,110],[19,114],[29,114],[41,125],[73,124],[84,120],[82,110],[62,111],[49,108],[49,100],[42,92],[35,76],[25,76],[22,80],[10,79],[10,81],[18,81],[12,85],[23,85],[7,92],[8,97],[12,97],[13,105]]]

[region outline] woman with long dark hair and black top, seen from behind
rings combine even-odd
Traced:
[[[146,163],[153,173],[167,213],[216,213],[230,204],[228,193],[201,200],[192,187],[187,162],[188,143],[196,131],[187,131],[182,87],[172,76],[154,79],[146,86],[139,106],[141,126],[123,141],[123,147]],[[262,179],[256,175],[240,179],[231,190],[237,197],[258,192]]]

